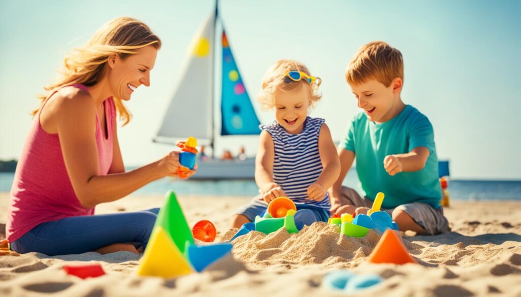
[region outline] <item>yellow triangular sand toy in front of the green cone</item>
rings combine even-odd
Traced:
[[[190,263],[170,235],[162,226],[154,227],[138,267],[138,275],[172,278],[190,273],[192,273]]]

